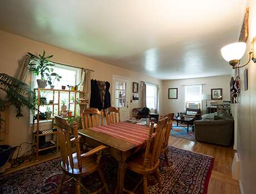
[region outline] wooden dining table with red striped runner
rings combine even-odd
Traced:
[[[91,146],[107,145],[109,152],[117,160],[117,186],[115,193],[121,194],[124,190],[124,164],[127,157],[136,151],[144,149],[149,135],[149,127],[132,124],[131,122],[118,122],[115,124],[80,129],[78,133],[83,142]]]

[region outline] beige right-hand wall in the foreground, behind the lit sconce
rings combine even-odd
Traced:
[[[249,32],[247,38],[247,52],[250,50],[250,42],[256,35],[256,1],[248,0],[245,8],[249,7]],[[244,8],[244,10],[245,10]],[[256,51],[255,51],[256,52]],[[247,63],[248,55],[244,54],[240,64]],[[248,90],[244,91],[244,70],[248,69]],[[238,154],[240,159],[240,193],[256,192],[256,64],[250,63],[239,69],[240,72],[240,96],[237,104],[238,127]],[[232,74],[238,74],[238,70],[232,70]]]

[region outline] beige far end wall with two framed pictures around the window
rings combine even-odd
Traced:
[[[185,111],[184,109],[184,86],[191,84],[206,84],[202,87],[203,94],[211,94],[211,89],[222,88],[223,100],[230,100],[229,92],[230,75],[211,76],[206,78],[194,79],[177,79],[163,81],[163,113],[175,113]],[[178,99],[168,99],[168,89],[178,88]],[[215,100],[217,103],[222,104],[223,100]],[[208,100],[208,107],[210,107],[210,100]],[[205,100],[202,102],[202,114],[205,114]]]

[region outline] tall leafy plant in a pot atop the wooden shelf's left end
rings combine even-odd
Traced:
[[[45,57],[45,50],[43,50],[43,55],[39,54],[39,57],[32,53],[28,53],[31,57],[31,62],[28,64],[30,68],[28,68],[29,72],[34,72],[36,76],[41,76],[41,79],[37,79],[38,88],[45,88],[47,84],[46,78],[51,76],[50,72],[53,72],[51,67],[54,67],[55,64],[48,60],[52,58],[53,55],[49,57]],[[32,63],[32,62],[35,63]]]

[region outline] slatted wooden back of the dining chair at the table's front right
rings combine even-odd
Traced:
[[[159,120],[155,127],[154,127],[154,122],[151,122],[150,130],[149,130],[149,137],[147,140],[147,146],[146,146],[146,150],[145,150],[144,164],[142,167],[143,170],[145,170],[147,162],[149,162],[150,168],[151,168],[151,167],[154,167],[155,164],[157,163],[157,161],[159,160],[160,151],[164,144],[164,135],[165,135],[165,131],[166,131],[167,120],[168,120],[168,118]],[[153,132],[155,133],[155,137],[154,137],[154,145],[151,149]],[[149,152],[151,154],[150,161],[148,161]]]

